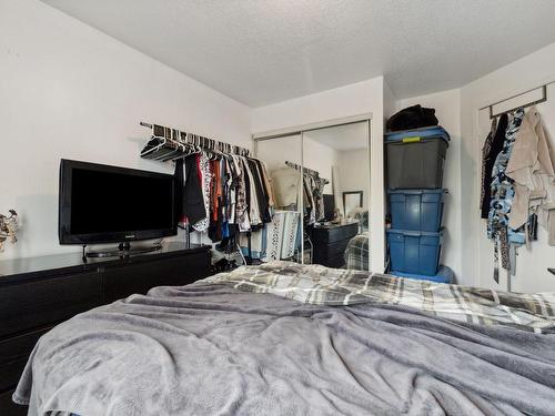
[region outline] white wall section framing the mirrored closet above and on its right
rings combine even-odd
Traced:
[[[261,133],[289,126],[372,113],[370,244],[374,272],[384,270],[383,119],[384,79],[367,81],[283,101],[252,111],[252,131]]]

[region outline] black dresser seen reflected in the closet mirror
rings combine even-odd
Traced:
[[[343,267],[349,241],[359,234],[359,223],[314,226],[312,229],[313,261],[327,267]]]

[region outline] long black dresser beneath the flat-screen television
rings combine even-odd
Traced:
[[[27,415],[11,395],[34,344],[54,325],[133,293],[209,274],[210,247],[181,243],[87,263],[80,253],[0,261],[0,415]]]

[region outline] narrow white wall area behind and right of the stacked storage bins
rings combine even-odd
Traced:
[[[445,200],[443,224],[446,227],[442,252],[442,263],[455,272],[458,282],[462,277],[463,231],[461,229],[461,90],[448,90],[434,94],[398,100],[396,110],[421,104],[435,109],[440,124],[451,135],[451,143],[445,160],[443,186],[448,190]]]

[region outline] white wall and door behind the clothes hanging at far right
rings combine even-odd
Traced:
[[[492,278],[493,244],[485,237],[485,221],[480,219],[481,150],[488,129],[488,118],[480,108],[515,93],[555,81],[555,43],[483,77],[461,90],[461,186],[464,199],[462,214],[464,283],[497,287]],[[555,136],[555,85],[547,92],[548,101],[538,106],[551,136]],[[555,291],[555,276],[546,271],[553,267],[555,247],[548,246],[545,233],[531,252],[521,248],[516,261],[514,291]],[[502,274],[500,288],[506,288]]]

